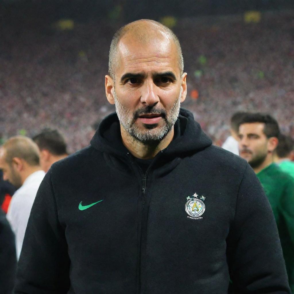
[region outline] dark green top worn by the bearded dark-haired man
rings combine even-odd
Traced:
[[[273,209],[290,288],[294,293],[294,178],[275,163],[257,174]]]

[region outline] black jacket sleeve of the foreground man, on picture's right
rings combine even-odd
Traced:
[[[291,293],[277,225],[258,178],[247,165],[227,238],[235,293]]]

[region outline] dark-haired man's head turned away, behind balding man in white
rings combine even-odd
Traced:
[[[68,156],[65,139],[58,130],[46,128],[33,141],[40,149],[40,165],[45,172],[54,162]]]

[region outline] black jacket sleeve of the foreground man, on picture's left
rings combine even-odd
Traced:
[[[14,293],[64,294],[69,290],[69,257],[59,223],[51,170],[42,181],[29,217]]]

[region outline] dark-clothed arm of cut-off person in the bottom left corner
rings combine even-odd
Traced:
[[[14,234],[5,214],[0,209],[0,291],[11,294],[14,287],[16,254]]]

